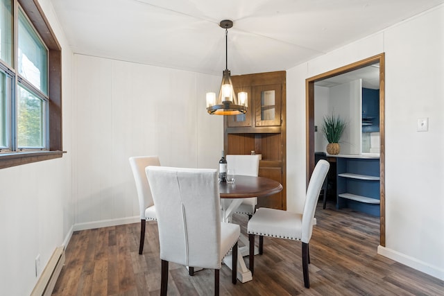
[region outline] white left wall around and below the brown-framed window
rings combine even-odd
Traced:
[[[72,195],[72,53],[53,14],[51,3],[40,0],[62,46],[62,158],[0,170],[0,294],[30,295],[35,258],[42,268],[63,245],[74,223]]]

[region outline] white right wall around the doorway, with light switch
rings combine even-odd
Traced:
[[[287,209],[305,195],[305,79],[386,53],[386,247],[444,279],[444,6],[287,71]],[[417,132],[418,118],[429,131]],[[376,250],[375,250],[376,252]]]

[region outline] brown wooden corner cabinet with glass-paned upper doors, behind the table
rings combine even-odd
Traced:
[[[248,93],[246,114],[225,116],[224,149],[227,154],[262,154],[259,176],[280,182],[283,190],[271,197],[259,198],[257,207],[287,209],[286,72],[268,72],[232,76],[235,92]]]

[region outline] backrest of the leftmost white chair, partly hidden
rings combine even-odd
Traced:
[[[130,157],[130,165],[133,170],[136,183],[137,197],[139,198],[140,218],[145,220],[145,209],[154,205],[151,189],[146,179],[145,168],[147,166],[160,166],[157,156]]]

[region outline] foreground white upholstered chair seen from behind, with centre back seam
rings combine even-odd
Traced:
[[[232,250],[232,283],[237,282],[239,225],[221,222],[216,170],[148,166],[146,177],[156,205],[162,275],[160,295],[167,295],[169,261],[214,269],[214,295],[219,270]]]

